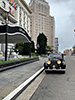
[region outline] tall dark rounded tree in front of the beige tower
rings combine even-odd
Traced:
[[[47,47],[46,36],[43,33],[39,34],[39,36],[37,37],[37,52],[38,52],[38,54],[45,54],[46,47]]]

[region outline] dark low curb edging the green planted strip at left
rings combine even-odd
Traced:
[[[29,63],[32,63],[32,62],[35,62],[35,61],[38,61],[38,60],[39,59],[32,59],[30,61],[25,61],[25,62],[21,62],[19,64],[3,67],[3,68],[0,68],[0,72],[5,71],[5,70],[9,70],[9,69],[12,69],[12,68],[15,68],[15,67],[19,67],[19,66],[24,65],[24,64],[29,64]]]

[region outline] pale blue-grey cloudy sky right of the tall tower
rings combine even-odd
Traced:
[[[26,0],[29,3],[30,0]],[[55,36],[59,40],[59,51],[75,45],[75,0],[46,0],[50,15],[55,18]]]

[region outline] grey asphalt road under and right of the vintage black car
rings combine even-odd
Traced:
[[[75,100],[75,57],[66,57],[65,74],[46,74],[30,100]]]

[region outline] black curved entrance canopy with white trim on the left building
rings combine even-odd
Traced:
[[[8,43],[31,42],[30,36],[19,26],[0,25],[0,43],[5,43],[5,34]]]

